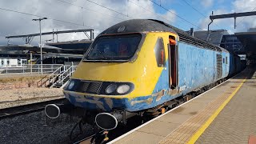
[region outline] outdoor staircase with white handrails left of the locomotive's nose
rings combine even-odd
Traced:
[[[40,81],[38,81],[38,87],[49,87],[49,88],[62,88],[71,78],[71,75],[74,73],[74,70],[77,66],[60,66],[54,73],[49,76],[45,76]]]

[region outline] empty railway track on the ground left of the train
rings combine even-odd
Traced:
[[[37,111],[44,110],[45,106],[50,103],[61,104],[67,102],[66,98],[59,98],[45,102],[36,102],[22,106],[14,106],[5,109],[0,109],[0,120],[3,118],[13,118],[22,114],[29,114]]]

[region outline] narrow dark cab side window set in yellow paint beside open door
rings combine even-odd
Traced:
[[[158,67],[165,67],[166,53],[165,53],[165,47],[163,44],[163,39],[161,37],[157,39],[157,42],[154,45],[154,54],[155,54]]]

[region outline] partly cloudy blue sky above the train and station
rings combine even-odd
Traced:
[[[167,22],[182,30],[207,30],[210,14],[229,14],[256,11],[256,0],[1,0],[0,1],[0,46],[7,42],[14,45],[25,44],[22,38],[6,36],[39,33],[53,30],[94,29],[95,36],[102,30],[133,18],[150,18]],[[256,27],[256,16],[218,19],[210,25],[210,30],[225,29],[230,34],[247,31]],[[85,39],[83,33],[58,34],[58,42]],[[42,36],[42,43],[52,36]],[[32,45],[38,45],[39,37],[34,37]],[[56,37],[55,37],[56,42]]]

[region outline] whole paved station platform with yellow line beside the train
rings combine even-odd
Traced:
[[[256,66],[109,143],[248,143],[256,139]]]

